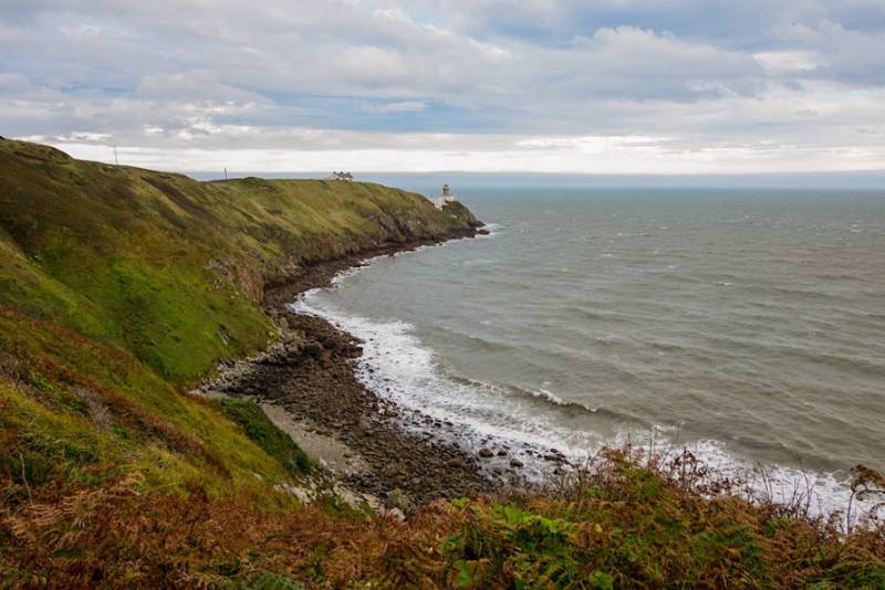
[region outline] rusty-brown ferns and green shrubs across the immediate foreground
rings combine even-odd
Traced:
[[[580,477],[425,507],[406,523],[252,498],[139,492],[136,478],[0,513],[0,583],[229,588],[870,588],[882,530],[728,494],[685,471],[598,455]],[[707,488],[709,489],[709,488]],[[721,489],[721,488],[720,488]],[[86,549],[88,548],[88,549]]]

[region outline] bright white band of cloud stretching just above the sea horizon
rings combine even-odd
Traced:
[[[76,157],[113,161],[110,146],[43,139],[50,139]],[[124,146],[119,148],[119,157],[121,161],[133,166],[184,171],[344,168],[363,172],[462,170],[596,175],[851,171],[876,169],[885,158],[882,145],[810,146],[769,138],[698,147],[690,137],[402,136],[313,129],[293,136],[291,145],[299,147],[209,149],[195,146],[166,150]]]

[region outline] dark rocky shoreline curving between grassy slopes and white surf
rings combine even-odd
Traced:
[[[477,233],[483,232],[447,239]],[[489,440],[478,453],[469,452],[458,444],[455,424],[405,412],[379,398],[354,371],[362,343],[289,306],[301,293],[329,286],[335,275],[371,257],[442,241],[392,244],[313,264],[285,284],[269,287],[263,306],[281,338],[256,357],[222,366],[198,391],[254,399],[335,481],[404,513],[439,498],[494,494],[524,484],[523,463],[517,453],[510,456],[509,446]],[[555,454],[552,460],[564,463]]]

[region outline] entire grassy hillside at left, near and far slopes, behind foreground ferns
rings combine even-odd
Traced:
[[[267,496],[310,471],[257,407],[179,388],[274,337],[263,285],[295,265],[475,221],[378,185],[198,182],[22,141],[0,141],[0,178],[10,502],[129,473]]]

